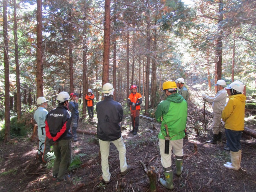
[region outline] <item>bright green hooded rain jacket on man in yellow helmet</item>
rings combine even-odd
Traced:
[[[167,124],[169,136],[171,140],[179,140],[185,137],[184,130],[187,123],[188,103],[178,93],[169,95],[166,100],[161,101],[156,109],[156,121],[163,121],[161,124],[161,131],[158,134],[159,139],[164,139],[166,131],[164,131],[164,124]]]

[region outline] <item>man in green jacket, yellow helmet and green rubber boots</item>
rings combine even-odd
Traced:
[[[177,85],[174,81],[165,81],[163,91],[167,96],[166,100],[159,103],[156,109],[156,121],[161,122],[161,131],[158,134],[161,163],[166,180],[160,179],[161,185],[168,189],[173,189],[172,180],[172,148],[176,160],[176,175],[180,176],[183,171],[183,138],[187,123],[187,101],[177,93]],[[168,127],[170,144],[168,154],[165,154],[165,136],[167,136]]]

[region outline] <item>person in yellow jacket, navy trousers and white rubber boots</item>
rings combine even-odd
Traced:
[[[229,100],[222,111],[221,119],[225,124],[227,146],[230,148],[231,163],[224,167],[238,170],[241,166],[241,136],[244,130],[244,108],[246,97],[243,95],[244,84],[234,81],[225,87],[228,90]]]

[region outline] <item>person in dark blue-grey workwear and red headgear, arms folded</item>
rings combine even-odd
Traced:
[[[77,141],[76,129],[78,127],[79,112],[78,112],[78,93],[70,93],[71,101],[68,103],[68,109],[72,114],[72,141]]]

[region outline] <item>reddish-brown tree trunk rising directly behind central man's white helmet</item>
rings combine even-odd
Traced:
[[[109,46],[110,46],[110,0],[105,0],[102,85],[108,83],[109,81]],[[104,100],[103,97],[102,97],[102,100]]]

